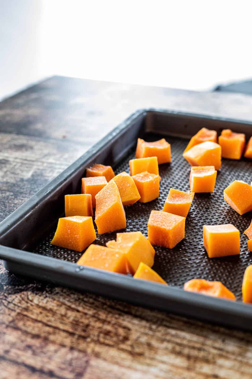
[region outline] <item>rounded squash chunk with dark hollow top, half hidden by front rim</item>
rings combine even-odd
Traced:
[[[221,282],[209,282],[204,279],[192,279],[184,284],[185,291],[197,292],[215,298],[235,300],[235,295]]]

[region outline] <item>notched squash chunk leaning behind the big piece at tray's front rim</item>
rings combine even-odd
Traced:
[[[135,274],[141,262],[153,266],[155,250],[141,232],[116,233],[116,241],[108,241],[106,245],[125,252],[131,274]]]

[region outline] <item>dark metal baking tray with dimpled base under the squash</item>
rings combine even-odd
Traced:
[[[57,220],[64,215],[65,194],[80,193],[85,168],[93,163],[110,164],[116,174],[129,172],[138,136],[149,141],[165,136],[172,146],[172,163],[159,166],[160,195],[152,202],[125,207],[127,228],[147,236],[152,209],[162,210],[170,187],[188,191],[190,165],[182,157],[187,140],[201,127],[223,128],[252,134],[252,123],[162,110],[138,111],[116,127],[75,163],[31,197],[0,224],[0,258],[13,273],[48,280],[155,309],[193,316],[226,326],[252,330],[252,305],[241,302],[241,284],[252,255],[243,231],[252,212],[238,215],[224,202],[223,189],[233,180],[251,181],[252,163],[223,159],[213,194],[195,194],[186,219],[186,235],[174,249],[155,246],[153,268],[169,283],[162,286],[130,276],[91,268],[80,269],[75,262],[81,253],[51,246]],[[204,224],[234,224],[241,233],[241,255],[209,259],[203,246]],[[116,232],[97,235],[95,243],[105,245]],[[183,291],[192,278],[220,280],[235,293],[232,302]]]

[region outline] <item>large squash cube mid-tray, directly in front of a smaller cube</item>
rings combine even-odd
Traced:
[[[186,218],[163,211],[151,211],[148,240],[152,245],[172,249],[185,236]]]

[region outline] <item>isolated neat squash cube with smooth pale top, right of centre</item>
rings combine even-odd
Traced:
[[[203,243],[209,258],[240,254],[240,232],[232,224],[204,225]]]

